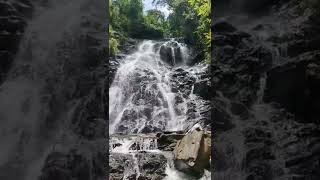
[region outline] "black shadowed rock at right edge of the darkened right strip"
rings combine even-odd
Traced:
[[[277,102],[303,122],[318,122],[320,117],[320,52],[304,53],[268,72],[265,100]]]

